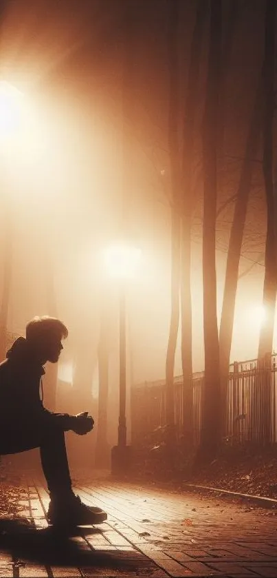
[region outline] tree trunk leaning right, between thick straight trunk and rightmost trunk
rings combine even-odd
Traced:
[[[263,76],[263,75],[262,75]],[[241,176],[236,194],[236,204],[230,231],[228,256],[225,271],[225,284],[223,291],[223,303],[221,310],[221,324],[219,331],[219,354],[221,375],[221,433],[225,431],[225,415],[228,373],[230,364],[230,351],[234,328],[234,307],[236,291],[239,279],[239,262],[241,258],[241,246],[243,231],[247,214],[248,199],[252,183],[253,162],[258,150],[258,137],[261,132],[261,107],[263,99],[263,79],[258,82],[250,128],[247,135],[245,155],[241,167]]]

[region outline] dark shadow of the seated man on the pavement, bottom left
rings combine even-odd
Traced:
[[[79,528],[74,535],[101,534],[96,528]],[[11,553],[25,564],[45,566],[93,566],[121,572],[135,572],[138,564],[143,572],[149,560],[135,551],[93,550],[74,535],[58,534],[53,528],[37,529],[27,518],[0,519],[0,553]],[[145,572],[144,570],[144,572]]]

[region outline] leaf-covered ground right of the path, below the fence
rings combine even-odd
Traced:
[[[168,486],[199,484],[239,493],[277,499],[277,445],[269,448],[223,447],[216,459],[192,468],[192,460],[179,451],[173,466],[159,444],[144,448],[133,469],[133,477]]]

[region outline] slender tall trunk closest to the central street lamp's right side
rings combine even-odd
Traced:
[[[174,367],[179,328],[180,290],[180,203],[179,203],[179,70],[178,70],[178,0],[168,0],[168,149],[171,185],[171,312],[166,351],[166,422],[175,426]]]

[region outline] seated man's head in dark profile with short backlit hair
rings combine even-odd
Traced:
[[[26,325],[27,344],[42,364],[58,361],[63,349],[61,340],[67,335],[67,327],[55,317],[34,317]]]

